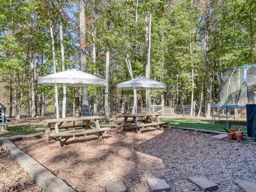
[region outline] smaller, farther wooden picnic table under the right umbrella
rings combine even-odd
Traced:
[[[167,122],[161,122],[159,113],[148,113],[148,114],[126,114],[124,116],[124,120],[121,124],[121,130],[124,131],[125,127],[136,128],[138,134],[141,134],[140,129],[147,126],[156,126],[159,127],[160,130],[164,130],[163,124],[167,124]],[[157,122],[152,120],[152,117],[156,117]],[[128,118],[132,118],[132,121],[128,122]],[[138,123],[138,118],[141,118],[140,124]],[[143,120],[144,118],[144,120]]]

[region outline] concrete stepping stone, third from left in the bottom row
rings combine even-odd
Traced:
[[[218,189],[218,184],[212,182],[211,180],[204,177],[189,177],[187,178],[189,182],[194,183],[198,186],[203,192],[206,191],[215,191]]]

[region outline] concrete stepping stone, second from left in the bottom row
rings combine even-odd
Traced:
[[[150,192],[170,191],[170,186],[163,179],[146,178]]]

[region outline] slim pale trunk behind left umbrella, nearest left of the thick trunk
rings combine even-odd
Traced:
[[[62,71],[65,71],[65,55],[64,55],[64,44],[63,44],[63,30],[62,30],[62,1],[61,0],[60,0],[60,49],[61,49]],[[67,103],[66,86],[63,86],[62,118],[66,118],[66,103]]]

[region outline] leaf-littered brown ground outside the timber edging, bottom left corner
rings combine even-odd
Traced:
[[[42,192],[29,174],[12,160],[2,146],[0,146],[0,191]]]

